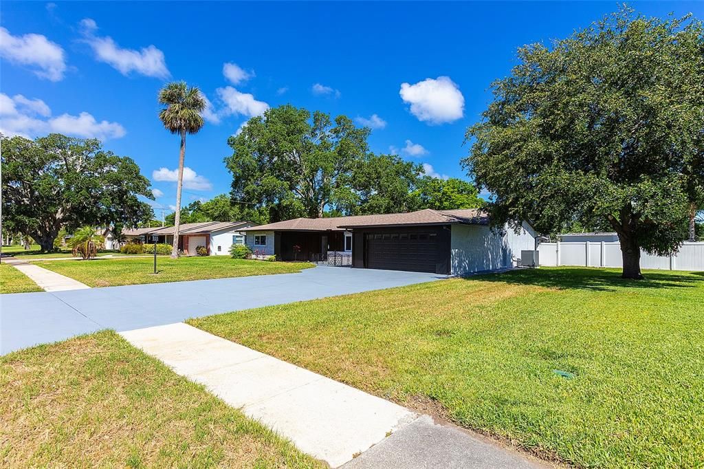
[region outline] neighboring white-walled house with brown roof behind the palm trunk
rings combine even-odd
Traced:
[[[187,256],[196,256],[196,247],[205,246],[208,256],[229,256],[232,244],[244,244],[245,235],[242,228],[251,227],[251,222],[204,222],[184,223],[179,230],[179,249]],[[137,239],[151,243],[172,244],[174,227],[137,228],[123,230],[127,239]]]

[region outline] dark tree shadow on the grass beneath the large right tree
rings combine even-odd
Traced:
[[[466,277],[466,280],[603,292],[612,292],[620,288],[704,288],[702,272],[671,273],[646,270],[643,276],[646,277],[644,280],[627,280],[621,278],[620,269],[563,267],[517,269],[498,274],[474,275]]]

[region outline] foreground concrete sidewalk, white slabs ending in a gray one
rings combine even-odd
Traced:
[[[121,334],[333,468],[544,467],[453,425],[436,425],[427,415],[183,323]]]

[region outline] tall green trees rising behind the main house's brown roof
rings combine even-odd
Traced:
[[[271,108],[228,141],[232,200],[264,223],[481,203],[469,182],[424,176],[417,163],[373,154],[369,135],[344,115]]]

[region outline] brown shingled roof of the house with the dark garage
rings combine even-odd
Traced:
[[[489,218],[478,208],[462,210],[432,210],[426,208],[410,213],[356,215],[332,218],[294,218],[268,225],[245,228],[243,231],[341,231],[345,228],[403,225],[487,225]]]

